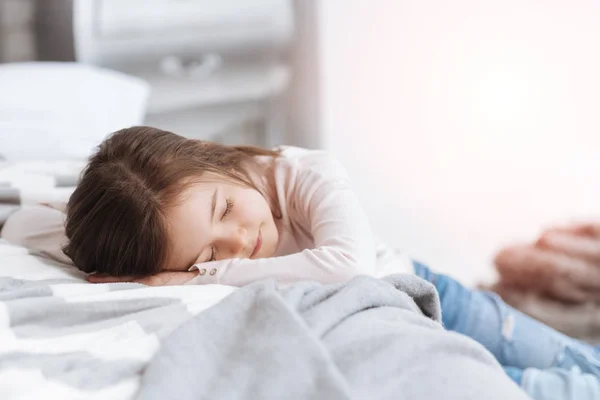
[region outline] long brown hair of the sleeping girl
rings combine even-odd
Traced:
[[[205,172],[258,190],[279,217],[272,193],[250,178],[249,171],[260,171],[255,156],[279,152],[191,140],[145,126],[113,133],[90,158],[69,199],[63,252],[88,273],[158,273],[169,251],[165,211]]]

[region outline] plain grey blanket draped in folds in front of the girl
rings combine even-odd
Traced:
[[[138,399],[528,398],[439,321],[433,287],[413,276],[258,282],[167,337]]]

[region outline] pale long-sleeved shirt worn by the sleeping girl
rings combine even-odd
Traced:
[[[412,262],[376,243],[346,170],[327,152],[283,147],[275,160],[281,229],[274,257],[195,265],[187,284],[242,286],[264,278],[342,282],[359,275],[413,273]]]

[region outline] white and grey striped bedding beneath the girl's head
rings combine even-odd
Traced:
[[[63,202],[82,166],[0,163],[0,210]],[[131,398],[159,342],[234,290],[196,289],[91,285],[72,265],[0,239],[0,398]]]

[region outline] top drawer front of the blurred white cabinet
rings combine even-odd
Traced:
[[[52,0],[57,1],[57,0]],[[163,55],[280,51],[291,0],[73,0],[78,60],[113,65]]]

